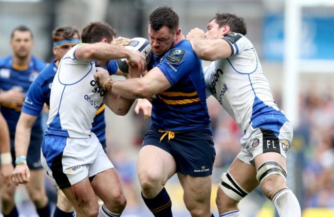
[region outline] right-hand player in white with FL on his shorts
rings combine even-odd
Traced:
[[[253,44],[245,37],[242,17],[217,13],[187,39],[203,60],[208,95],[213,95],[237,122],[243,149],[221,175],[216,204],[219,216],[241,216],[238,202],[261,185],[281,217],[301,216],[296,196],[286,185],[286,153],[293,129],[277,107]]]

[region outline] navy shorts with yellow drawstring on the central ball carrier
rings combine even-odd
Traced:
[[[176,162],[176,171],[190,176],[208,176],[212,174],[216,151],[212,131],[198,130],[175,133],[168,141],[166,135],[150,128],[145,134],[143,146],[151,144],[170,153]]]

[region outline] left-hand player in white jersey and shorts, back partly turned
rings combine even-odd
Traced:
[[[138,51],[110,44],[112,27],[92,22],[82,30],[82,42],[61,60],[52,82],[48,128],[42,143],[42,165],[64,192],[77,216],[120,216],[126,199],[117,172],[94,133],[93,118],[103,102],[125,115],[134,100],[107,92],[94,79],[94,61],[126,58],[131,69],[143,70]],[[136,71],[136,75],[138,71]],[[132,71],[129,76],[131,77]],[[104,204],[99,208],[97,197]]]

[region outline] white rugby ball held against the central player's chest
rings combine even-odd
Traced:
[[[145,68],[146,68],[146,66],[149,64],[151,57],[152,57],[152,48],[151,48],[149,40],[145,38],[141,38],[141,37],[136,37],[136,38],[131,39],[131,43],[125,46],[125,48],[130,49],[130,50],[139,50],[146,59],[146,64],[145,64]],[[129,73],[129,66],[125,62],[125,58],[117,59],[116,62],[117,62],[118,68],[123,73]]]

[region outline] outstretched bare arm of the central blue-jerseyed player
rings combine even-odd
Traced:
[[[136,99],[154,96],[171,86],[171,83],[162,71],[158,67],[155,67],[141,78],[108,82],[105,87],[111,90],[113,94],[127,99]]]

